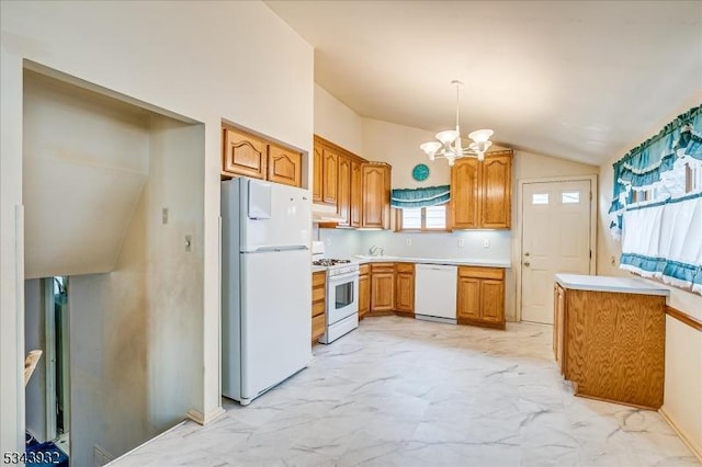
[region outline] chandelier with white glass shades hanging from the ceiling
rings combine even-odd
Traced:
[[[473,140],[468,147],[464,148],[461,141],[461,127],[458,125],[458,90],[463,83],[458,80],[451,81],[451,84],[456,87],[456,129],[446,129],[439,132],[435,135],[438,141],[428,141],[419,146],[419,148],[427,153],[429,160],[437,158],[444,158],[449,161],[449,166],[453,167],[456,159],[462,157],[475,157],[478,160],[485,159],[485,151],[492,146],[490,136],[492,136],[491,129],[476,129],[468,134],[468,138]]]

